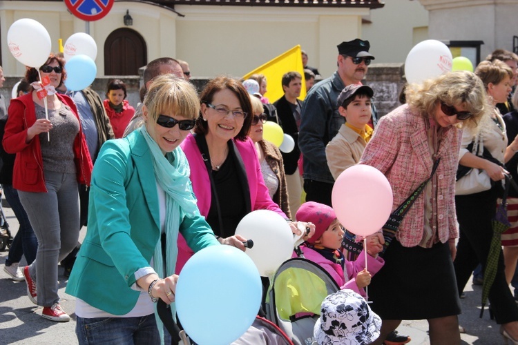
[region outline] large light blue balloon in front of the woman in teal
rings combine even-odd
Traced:
[[[259,271],[233,246],[210,246],[185,264],[176,286],[178,318],[200,345],[228,345],[256,319],[262,297]]]

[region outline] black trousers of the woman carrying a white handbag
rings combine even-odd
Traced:
[[[474,268],[478,264],[483,269],[486,268],[493,233],[491,219],[495,216],[497,207],[497,191],[492,188],[472,195],[459,195],[455,197],[455,204],[460,238],[453,266],[460,295]],[[500,250],[497,275],[489,292],[489,302],[498,324],[518,321],[518,307],[506,282],[503,268],[503,253]]]

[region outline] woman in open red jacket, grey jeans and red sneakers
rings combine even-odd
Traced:
[[[90,184],[92,172],[75,103],[55,92],[66,77],[63,67],[50,55],[39,71],[26,72],[35,90],[12,99],[2,141],[16,153],[12,186],[38,239],[35,262],[23,268],[28,297],[44,307],[42,317],[57,322],[70,320],[59,304],[57,264],[77,244],[77,184]]]

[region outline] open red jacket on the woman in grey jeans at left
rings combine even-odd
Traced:
[[[86,139],[81,130],[81,119],[77,115],[77,108],[72,99],[59,94],[57,94],[57,97],[66,106],[70,107],[79,121],[79,133],[74,140],[77,181],[80,184],[89,185],[92,175],[92,161],[90,160],[88,146],[86,146]],[[12,172],[12,186],[25,192],[46,193],[39,135],[36,135],[30,143],[26,144],[27,130],[36,122],[32,92],[17,99],[12,99],[8,114],[2,144],[6,152],[16,153],[15,168]]]

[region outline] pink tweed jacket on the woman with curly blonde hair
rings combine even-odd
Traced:
[[[374,166],[392,186],[395,210],[432,173],[432,155],[422,115],[407,105],[396,108],[378,122],[374,136],[365,147],[359,164]],[[429,183],[437,184],[437,222],[439,241],[459,237],[455,213],[455,174],[459,161],[462,130],[445,128],[439,143],[441,162]],[[423,237],[425,215],[424,193],[403,218],[396,239],[405,247],[417,246]]]

